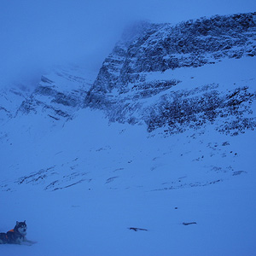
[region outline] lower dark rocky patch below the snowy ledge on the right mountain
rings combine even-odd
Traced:
[[[201,96],[193,96],[195,90],[177,91],[162,96],[160,102],[149,108],[145,118],[148,131],[165,126],[166,132],[178,133],[188,128],[200,128],[206,123],[211,124],[217,118],[224,119],[217,128],[220,132],[228,134],[232,130],[253,130],[256,127],[256,118],[246,118],[244,114],[250,113],[247,102],[255,100],[256,94],[243,87],[224,95],[214,87],[212,84],[195,89],[202,90]],[[230,121],[226,122],[228,117]]]

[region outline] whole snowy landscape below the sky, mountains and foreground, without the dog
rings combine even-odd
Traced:
[[[255,17],[142,22],[98,74],[2,91],[0,232],[38,244],[0,252],[254,255]]]

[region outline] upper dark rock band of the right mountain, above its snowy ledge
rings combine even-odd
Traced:
[[[144,23],[133,41],[121,41],[104,61],[90,91],[107,93],[143,79],[143,73],[201,67],[221,58],[254,56],[255,15],[213,16],[170,24]],[[125,86],[126,87],[126,86]]]

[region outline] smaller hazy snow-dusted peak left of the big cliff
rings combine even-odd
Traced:
[[[70,119],[84,105],[84,96],[90,89],[93,75],[79,67],[59,68],[41,81],[30,96],[20,104],[16,115],[39,113],[53,121]]]

